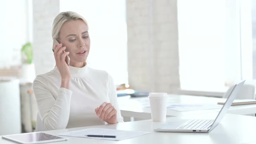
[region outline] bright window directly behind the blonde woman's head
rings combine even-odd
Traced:
[[[74,11],[89,24],[88,63],[109,72],[115,84],[128,83],[125,0],[61,0],[60,11]]]

